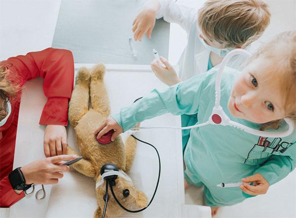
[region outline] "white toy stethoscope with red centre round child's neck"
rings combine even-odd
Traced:
[[[162,129],[162,128],[188,130],[188,129],[198,128],[198,127],[212,124],[212,125],[223,125],[223,126],[235,127],[235,128],[240,129],[242,131],[245,131],[245,132],[248,132],[248,133],[251,133],[254,135],[258,135],[258,136],[263,136],[263,137],[275,138],[275,137],[286,137],[286,136],[290,135],[294,131],[295,125],[294,125],[294,122],[289,118],[284,119],[285,122],[289,126],[288,130],[278,131],[278,132],[268,132],[268,131],[255,130],[255,129],[252,129],[252,128],[247,127],[245,125],[242,125],[240,123],[234,122],[234,121],[230,120],[230,118],[225,114],[222,106],[220,105],[221,79],[222,79],[224,67],[226,66],[226,64],[228,63],[230,58],[233,57],[234,55],[244,55],[247,58],[249,58],[252,54],[244,49],[234,49],[234,50],[230,51],[222,60],[221,66],[219,68],[219,71],[218,71],[218,74],[216,77],[216,82],[215,82],[215,106],[214,106],[212,114],[210,115],[209,120],[207,122],[202,123],[202,124],[197,124],[194,126],[183,127],[183,128],[179,128],[179,127],[136,127],[136,128],[132,128],[131,130],[138,131],[140,129]]]

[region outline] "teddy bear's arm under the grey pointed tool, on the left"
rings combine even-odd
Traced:
[[[80,156],[77,152],[73,150],[72,147],[68,146],[67,148],[67,154],[75,154],[77,156]],[[96,176],[96,171],[92,164],[88,161],[82,158],[80,161],[74,163],[71,165],[76,171],[78,171],[80,174],[84,174],[88,177],[94,178]]]

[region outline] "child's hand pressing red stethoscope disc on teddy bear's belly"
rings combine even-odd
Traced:
[[[111,136],[111,141],[114,141],[117,135],[123,132],[122,127],[120,127],[120,125],[117,124],[117,122],[111,116],[109,116],[107,120],[105,120],[104,123],[95,131],[95,135],[99,132],[97,135],[97,139],[99,139],[111,130],[114,130]]]

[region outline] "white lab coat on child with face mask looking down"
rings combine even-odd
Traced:
[[[197,10],[185,5],[177,4],[174,0],[159,0],[160,9],[156,14],[156,19],[163,17],[169,23],[179,24],[187,33],[187,45],[179,60],[179,77],[185,81],[197,74],[208,70],[210,50],[199,40],[199,28],[197,25]],[[246,50],[254,53],[259,47],[259,43],[252,43]],[[227,66],[241,70],[245,58],[233,58]],[[216,67],[219,67],[217,65]]]

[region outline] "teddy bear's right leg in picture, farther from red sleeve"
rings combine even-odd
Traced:
[[[104,117],[110,115],[110,102],[104,85],[105,65],[100,63],[91,69],[90,100],[94,110]]]

